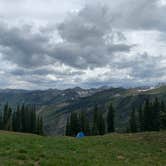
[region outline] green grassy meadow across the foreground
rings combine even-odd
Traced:
[[[0,166],[165,166],[166,132],[75,139],[0,132]]]

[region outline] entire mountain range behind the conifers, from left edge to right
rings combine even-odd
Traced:
[[[36,104],[38,114],[43,116],[44,132],[47,135],[63,135],[67,117],[72,111],[86,111],[86,115],[92,121],[93,107],[97,104],[99,110],[106,117],[108,104],[113,103],[115,113],[116,131],[126,130],[130,111],[138,107],[146,98],[159,97],[166,101],[166,86],[137,87],[137,88],[113,88],[100,87],[92,89],[58,90],[0,90],[0,107],[8,102],[12,107],[17,104]]]

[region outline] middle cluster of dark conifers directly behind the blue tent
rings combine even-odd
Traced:
[[[82,111],[80,114],[72,112],[67,119],[65,134],[67,136],[76,136],[78,132],[83,131],[87,136],[104,135],[105,133],[114,132],[114,130],[114,108],[112,104],[108,107],[107,118],[105,119],[96,105],[93,109],[92,122],[87,118],[86,112]]]

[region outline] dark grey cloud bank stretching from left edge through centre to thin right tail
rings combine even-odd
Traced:
[[[81,69],[105,66],[115,52],[129,52],[132,47],[127,44],[106,44],[104,37],[113,34],[108,11],[105,7],[86,6],[71,15],[58,25],[63,42],[52,45],[49,43],[51,32],[33,32],[33,27],[28,25],[10,28],[1,24],[3,58],[23,67],[54,62]]]

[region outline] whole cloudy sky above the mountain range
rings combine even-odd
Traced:
[[[0,0],[0,88],[166,82],[166,0]]]

